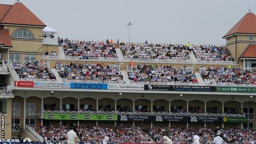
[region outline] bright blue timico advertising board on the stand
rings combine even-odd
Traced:
[[[71,82],[71,89],[107,89],[107,84]]]

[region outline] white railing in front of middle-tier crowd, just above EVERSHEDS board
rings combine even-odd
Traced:
[[[133,80],[130,80],[130,83],[135,85],[199,85],[198,82],[135,82]]]

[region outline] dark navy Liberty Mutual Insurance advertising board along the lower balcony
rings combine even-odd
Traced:
[[[222,122],[222,117],[209,116],[142,116],[119,114],[119,121],[190,121],[190,122]]]

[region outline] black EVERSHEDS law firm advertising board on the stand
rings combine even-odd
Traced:
[[[208,91],[215,92],[216,87],[192,85],[144,85],[144,90],[149,91]]]

